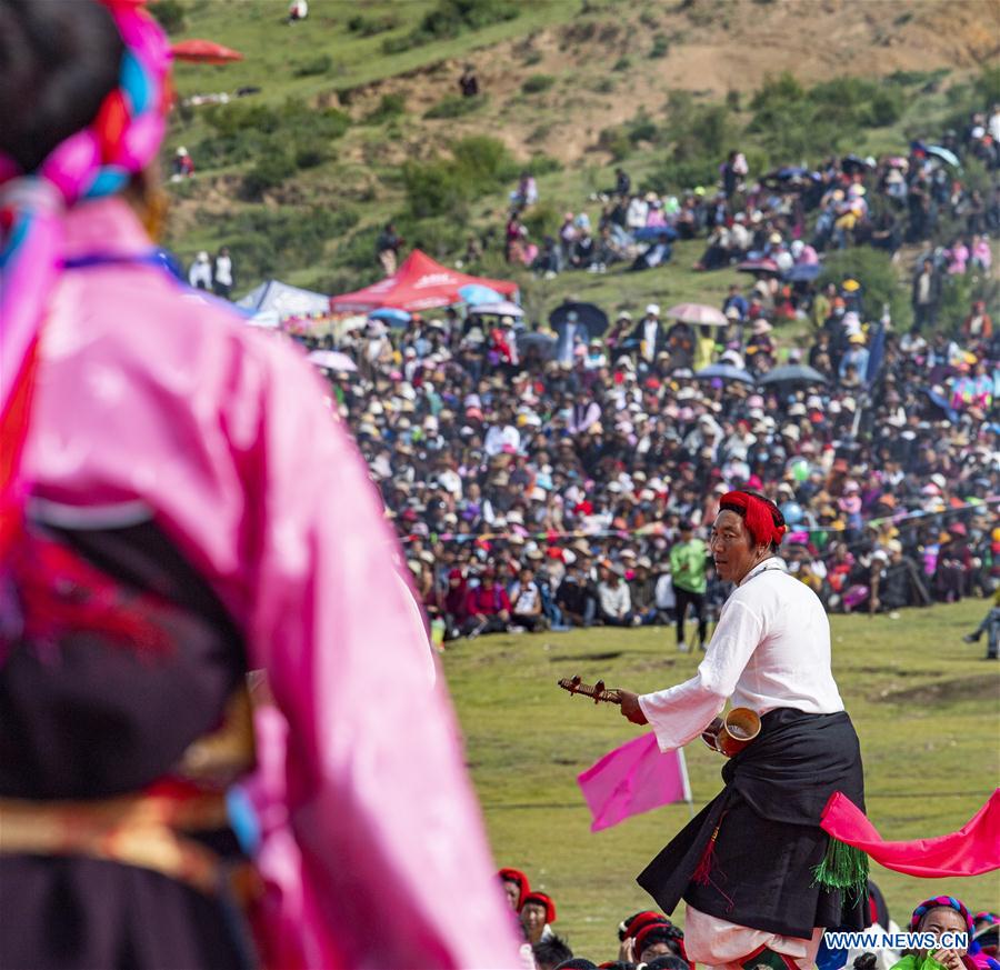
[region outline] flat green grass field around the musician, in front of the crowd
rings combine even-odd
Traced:
[[[986,609],[966,600],[898,620],[831,618],[833,670],[861,738],[868,814],[883,838],[953,831],[998,784],[1000,664],[980,659],[982,644],[961,641]],[[663,627],[489,637],[446,652],[497,864],[523,869],[532,887],[551,893],[556,930],[596,962],[613,958],[619,921],[652,904],[634,877],[690,814],[668,806],[591,834],[576,777],[639,729],[614,708],[571,698],[556,680],[580,673],[650,691],[686,680],[698,662],[677,652]],[[686,756],[698,810],[722,787],[722,758],[701,742]],[[874,866],[872,874],[898,922],[941,892],[977,910],[1000,904],[998,873],[921,880]]]

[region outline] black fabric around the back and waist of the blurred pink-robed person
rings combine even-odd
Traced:
[[[244,677],[243,638],[206,579],[153,523],[32,531],[112,580],[164,650],[100,629],[37,642],[17,570],[0,576],[0,797],[102,799],[137,792],[222,721]],[[34,547],[38,548],[38,547]],[[24,556],[32,547],[26,546]],[[56,583],[58,579],[52,578]],[[134,612],[134,611],[133,611]],[[13,633],[11,633],[13,631]],[[239,859],[232,832],[198,833]],[[84,856],[0,854],[2,970],[246,970],[242,914],[151,869]]]

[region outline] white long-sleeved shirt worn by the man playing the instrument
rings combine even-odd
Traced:
[[[684,683],[639,698],[662,751],[697,738],[726,701],[764,714],[774,708],[843,710],[830,670],[830,623],[819,598],[778,559],[747,573],[722,607],[698,667]]]

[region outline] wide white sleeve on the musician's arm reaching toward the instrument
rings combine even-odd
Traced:
[[[683,747],[712,722],[726,707],[763,633],[761,616],[739,600],[730,601],[698,673],[677,687],[639,698],[661,751]]]

